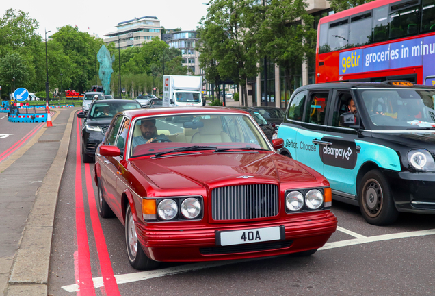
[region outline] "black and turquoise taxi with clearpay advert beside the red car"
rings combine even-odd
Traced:
[[[312,84],[295,90],[280,153],[323,174],[332,197],[373,225],[435,214],[435,87],[410,82]]]

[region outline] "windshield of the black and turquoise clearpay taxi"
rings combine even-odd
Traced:
[[[435,128],[435,90],[360,90],[375,130]]]

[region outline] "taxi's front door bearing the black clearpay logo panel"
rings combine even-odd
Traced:
[[[350,127],[340,126],[340,116],[349,112],[350,99],[354,99],[350,90],[334,90],[328,127],[321,139],[330,143],[320,151],[324,164],[324,176],[329,180],[334,195],[356,199],[356,175],[358,168],[358,132]],[[357,108],[358,112],[358,108]]]

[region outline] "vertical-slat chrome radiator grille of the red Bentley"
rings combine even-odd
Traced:
[[[211,192],[211,210],[213,220],[276,216],[278,214],[278,186],[252,184],[215,188]]]

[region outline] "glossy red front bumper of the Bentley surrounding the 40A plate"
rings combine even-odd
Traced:
[[[156,261],[189,262],[233,260],[278,256],[322,247],[337,229],[337,218],[331,212],[315,219],[301,221],[267,221],[249,225],[198,227],[195,230],[157,230],[136,223],[137,237],[146,255]],[[285,227],[285,240],[220,247],[215,232],[249,230],[256,227]],[[178,227],[177,227],[178,228]]]

